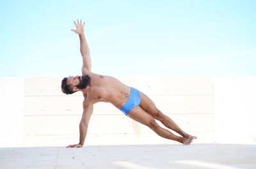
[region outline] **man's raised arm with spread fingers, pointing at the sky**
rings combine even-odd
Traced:
[[[74,21],[74,24],[76,26],[76,30],[71,29],[71,31],[74,31],[75,33],[79,34],[80,52],[83,57],[82,74],[85,75],[86,71],[91,71],[91,68],[92,68],[90,50],[89,50],[88,44],[87,44],[85,36],[84,36],[85,22],[82,25],[82,20],[80,20],[80,23],[79,23],[79,21],[77,19],[77,23]]]

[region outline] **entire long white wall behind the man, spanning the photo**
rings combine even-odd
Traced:
[[[253,130],[256,77],[117,78],[147,94],[182,129],[197,135],[196,142],[256,140]],[[0,96],[0,147],[63,146],[79,142],[83,97],[79,93],[63,94],[61,79],[0,78],[3,89]],[[97,103],[85,143],[174,142],[132,121],[111,104]]]

